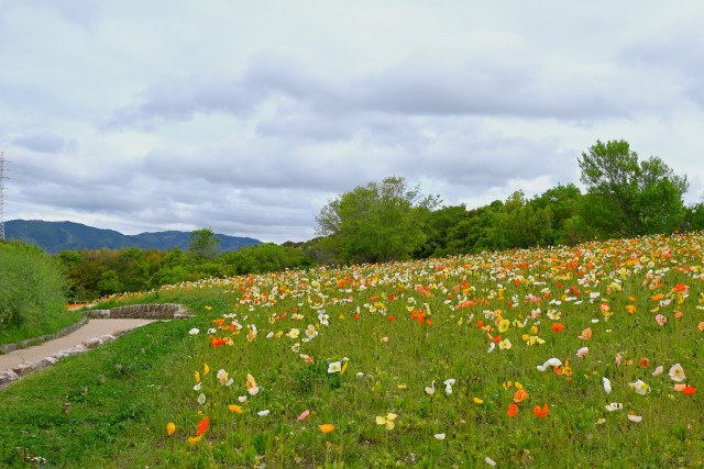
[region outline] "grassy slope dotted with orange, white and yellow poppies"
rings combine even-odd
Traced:
[[[197,316],[0,391],[0,464],[704,467],[703,255],[688,234],[113,298]]]

